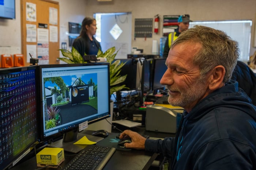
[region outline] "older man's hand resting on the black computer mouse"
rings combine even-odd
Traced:
[[[123,131],[119,138],[122,139],[126,135],[128,135],[132,139],[132,143],[125,143],[124,147],[126,148],[134,148],[134,149],[145,149],[145,141],[146,138],[138,134],[137,132],[133,132],[130,130]]]

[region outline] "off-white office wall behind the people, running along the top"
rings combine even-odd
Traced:
[[[97,12],[132,12],[132,47],[144,49],[145,54],[151,54],[153,40],[162,36],[163,15],[179,15],[188,13],[193,21],[206,20],[241,20],[251,19],[252,41],[251,53],[256,50],[255,44],[255,20],[256,0],[112,0],[110,2],[97,0],[55,0],[60,5],[60,47],[61,42],[68,44],[68,22],[81,23],[85,16],[93,16]],[[3,47],[11,46],[12,50],[21,52],[20,30],[20,0],[16,3],[16,19],[0,19],[0,54]],[[160,28],[158,34],[152,38],[136,38],[134,40],[134,19],[154,18],[160,15]],[[15,53],[16,53],[15,51]],[[14,53],[12,53],[14,54]]]

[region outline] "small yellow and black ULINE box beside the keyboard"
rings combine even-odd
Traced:
[[[63,148],[44,148],[37,154],[37,166],[60,165],[64,161]]]

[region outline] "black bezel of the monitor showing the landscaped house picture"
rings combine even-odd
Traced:
[[[44,124],[42,123],[42,121],[44,120],[43,119],[43,116],[44,116],[44,113],[43,113],[43,98],[42,98],[42,78],[41,78],[41,74],[42,74],[42,68],[50,68],[50,67],[79,67],[79,66],[93,66],[93,65],[107,65],[108,66],[108,73],[109,73],[109,63],[78,63],[78,64],[52,64],[52,65],[39,65],[39,69],[38,69],[38,79],[39,80],[39,83],[40,83],[40,88],[39,88],[39,91],[38,91],[38,96],[40,97],[40,100],[39,100],[39,140],[41,141],[48,141],[48,140],[51,140],[52,142],[54,142],[55,140],[59,140],[60,138],[63,137],[64,134],[66,134],[67,132],[71,132],[71,131],[78,131],[79,129],[79,125],[76,125],[75,127],[73,128],[69,128],[67,130],[64,130],[64,131],[59,131],[58,133],[56,134],[53,134],[53,135],[49,135],[49,136],[44,136]],[[108,74],[108,87],[110,89],[110,78],[109,78],[109,74]],[[99,120],[103,120],[103,119],[106,119],[108,117],[110,117],[110,90],[108,90],[108,103],[109,103],[109,111],[108,111],[108,115],[106,116],[102,116],[98,119],[94,119],[94,120],[91,120],[91,121],[88,121],[88,124],[91,124],[91,123],[95,123]],[[84,122],[84,121],[82,121]],[[82,123],[82,122],[79,122]]]

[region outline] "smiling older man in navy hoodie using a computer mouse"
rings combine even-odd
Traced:
[[[238,44],[224,32],[195,26],[172,43],[161,84],[184,108],[175,138],[145,139],[124,131],[127,148],[162,153],[169,169],[256,169],[256,107],[230,81]],[[156,113],[157,114],[157,113]]]

